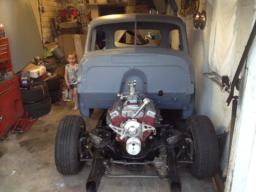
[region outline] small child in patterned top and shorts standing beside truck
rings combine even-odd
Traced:
[[[78,73],[78,64],[77,54],[74,51],[69,51],[67,54],[67,61],[69,64],[65,66],[65,81],[67,88],[70,89],[71,95],[75,98],[75,107],[74,111],[78,110],[78,95],[77,95],[77,73]]]

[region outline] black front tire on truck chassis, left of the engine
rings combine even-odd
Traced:
[[[81,171],[84,163],[79,161],[78,141],[83,131],[86,128],[81,116],[67,115],[59,122],[54,152],[59,173],[73,175]]]

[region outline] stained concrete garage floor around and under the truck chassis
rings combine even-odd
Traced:
[[[50,113],[40,117],[22,135],[11,134],[0,142],[0,191],[1,192],[85,192],[90,166],[85,165],[77,175],[58,173],[54,160],[55,134],[59,121],[65,115],[80,115],[73,111],[73,102],[57,107],[52,105]],[[102,111],[93,117],[84,118],[87,131],[94,128]],[[143,173],[153,173],[150,166]],[[113,174],[127,174],[125,166],[112,166]],[[132,171],[130,174],[134,174]],[[214,192],[211,178],[195,178],[186,166],[179,167],[182,192]],[[98,192],[169,192],[168,181],[142,178],[102,177]]]

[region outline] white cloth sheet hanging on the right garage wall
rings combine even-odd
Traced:
[[[210,69],[232,78],[238,30],[238,0],[208,0],[213,5],[209,41]]]

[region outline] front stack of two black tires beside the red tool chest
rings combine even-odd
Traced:
[[[32,118],[46,115],[51,110],[51,98],[49,97],[47,83],[31,89],[21,89],[21,98],[24,114],[28,112]]]

